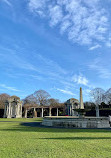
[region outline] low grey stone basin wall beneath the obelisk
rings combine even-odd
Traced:
[[[45,117],[42,125],[65,128],[110,128],[108,117]]]

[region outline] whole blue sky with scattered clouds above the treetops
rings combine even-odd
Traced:
[[[111,87],[111,0],[0,0],[0,93],[84,101]]]

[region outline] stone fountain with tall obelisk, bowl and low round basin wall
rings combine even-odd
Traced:
[[[83,104],[82,88],[80,88],[79,107],[73,110],[78,112],[78,116],[46,116],[42,125],[65,128],[110,128],[108,117],[85,117],[87,109]]]

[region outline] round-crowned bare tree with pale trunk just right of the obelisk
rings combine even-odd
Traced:
[[[105,91],[102,88],[95,88],[91,91],[91,100],[96,105],[96,117],[99,117],[99,105],[104,102]]]

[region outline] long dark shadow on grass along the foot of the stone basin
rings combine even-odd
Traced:
[[[12,122],[13,123],[13,122]],[[18,122],[19,123],[19,122]],[[12,124],[13,125],[13,124]],[[111,133],[111,129],[78,129],[78,128],[63,128],[63,127],[47,127],[42,126],[41,122],[22,122],[18,125],[11,128],[11,124],[8,128],[0,129],[0,131],[7,131],[7,132],[47,132],[47,133],[81,133],[81,132],[88,132],[88,133]]]

